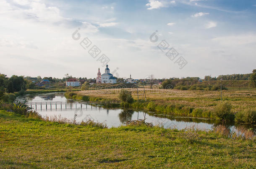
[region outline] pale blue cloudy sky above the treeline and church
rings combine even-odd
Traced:
[[[96,78],[256,69],[256,0],[0,0],[0,73]]]

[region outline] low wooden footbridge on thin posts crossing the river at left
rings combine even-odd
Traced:
[[[16,103],[18,104],[18,103]],[[77,109],[77,108],[87,108],[94,106],[95,108],[102,107],[102,106],[107,106],[112,104],[120,104],[120,101],[75,101],[75,102],[61,102],[61,101],[56,101],[56,102],[26,102],[26,105],[30,106],[30,108],[35,108],[37,109]]]

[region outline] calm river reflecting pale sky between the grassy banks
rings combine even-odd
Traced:
[[[180,117],[175,115],[164,115],[164,114],[155,114],[154,112],[134,110],[134,109],[122,109],[122,108],[99,108],[95,106],[82,103],[82,108],[80,104],[76,107],[71,105],[74,101],[72,99],[67,99],[64,96],[64,93],[46,93],[46,94],[27,94],[24,96],[17,97],[16,101],[20,102],[68,102],[67,109],[65,106],[60,108],[60,105],[52,104],[52,109],[42,105],[42,110],[37,106],[37,111],[43,117],[62,117],[69,120],[76,119],[77,122],[94,120],[100,123],[104,123],[107,127],[118,127],[125,123],[128,120],[138,120],[145,119],[146,122],[152,123],[153,125],[164,126],[165,128],[176,128],[178,130],[186,128],[196,128],[201,130],[212,130],[214,126],[219,124],[219,121],[212,119],[203,119],[203,118],[191,118],[191,117]],[[72,106],[72,108],[70,108]],[[35,106],[32,106],[35,109]],[[243,126],[246,129],[252,128],[254,133],[256,133],[256,127],[253,125],[246,124],[228,124],[230,130],[237,131],[237,128]],[[239,131],[238,131],[239,132]]]

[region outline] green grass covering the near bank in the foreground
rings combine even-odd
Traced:
[[[256,168],[256,141],[146,125],[111,129],[0,111],[0,168]]]

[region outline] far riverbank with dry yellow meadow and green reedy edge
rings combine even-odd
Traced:
[[[159,114],[177,114],[181,116],[217,119],[217,105],[223,101],[231,105],[231,112],[236,122],[256,123],[256,90],[222,91],[222,101],[219,91],[181,91],[171,89],[145,88],[146,101],[142,100],[144,90],[128,88],[135,101],[121,103],[120,107],[139,108],[154,111]],[[118,100],[120,89],[101,89],[89,91],[66,92],[66,98],[84,101]],[[139,100],[137,99],[139,98]],[[145,97],[144,97],[145,99]],[[237,116],[235,116],[237,115]]]

